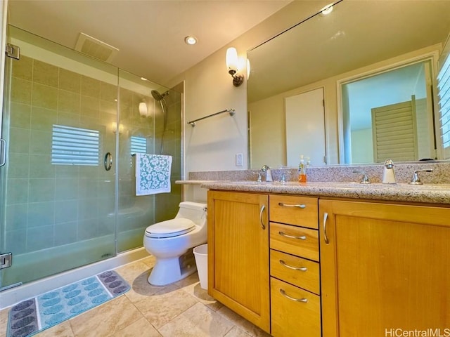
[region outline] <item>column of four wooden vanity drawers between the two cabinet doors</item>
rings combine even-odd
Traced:
[[[320,337],[318,199],[269,196],[271,334]]]

